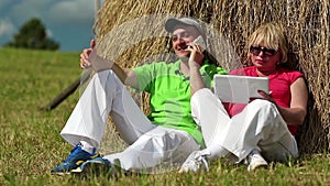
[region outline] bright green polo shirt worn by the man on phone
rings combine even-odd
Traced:
[[[133,70],[138,76],[139,90],[151,94],[148,119],[157,125],[184,130],[204,146],[200,128],[191,117],[189,77],[180,73],[179,65],[180,61],[169,64],[158,62]],[[227,72],[206,62],[200,74],[205,85],[210,88],[213,85],[213,75]]]

